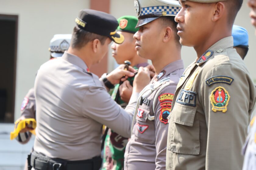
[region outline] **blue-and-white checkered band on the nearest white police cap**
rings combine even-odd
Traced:
[[[166,12],[166,15],[176,15],[180,11],[180,7],[174,6],[151,6],[141,8],[141,15],[152,14],[155,12]]]

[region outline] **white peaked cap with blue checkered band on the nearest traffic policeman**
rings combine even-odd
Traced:
[[[139,19],[136,28],[161,16],[176,16],[181,9],[177,0],[135,0],[134,7]]]

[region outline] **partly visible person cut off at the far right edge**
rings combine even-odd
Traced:
[[[251,8],[250,17],[251,22],[256,28],[256,0],[249,0],[248,6]],[[255,32],[256,34],[256,32]],[[255,39],[255,38],[254,38]],[[244,155],[243,170],[256,169],[256,116],[254,109],[254,117],[250,123],[250,131],[242,148],[242,154]]]

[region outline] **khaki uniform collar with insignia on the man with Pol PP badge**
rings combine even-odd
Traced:
[[[212,56],[214,56],[214,52],[222,52],[226,48],[233,47],[233,37],[225,37],[220,39],[218,42],[213,44],[200,58],[197,60],[196,65],[200,66],[206,61],[208,61]]]

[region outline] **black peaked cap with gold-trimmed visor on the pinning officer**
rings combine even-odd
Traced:
[[[112,41],[121,44],[124,37],[116,33],[118,22],[116,18],[105,12],[92,9],[83,9],[76,18],[76,24],[80,29],[92,32],[101,36],[107,36]]]

